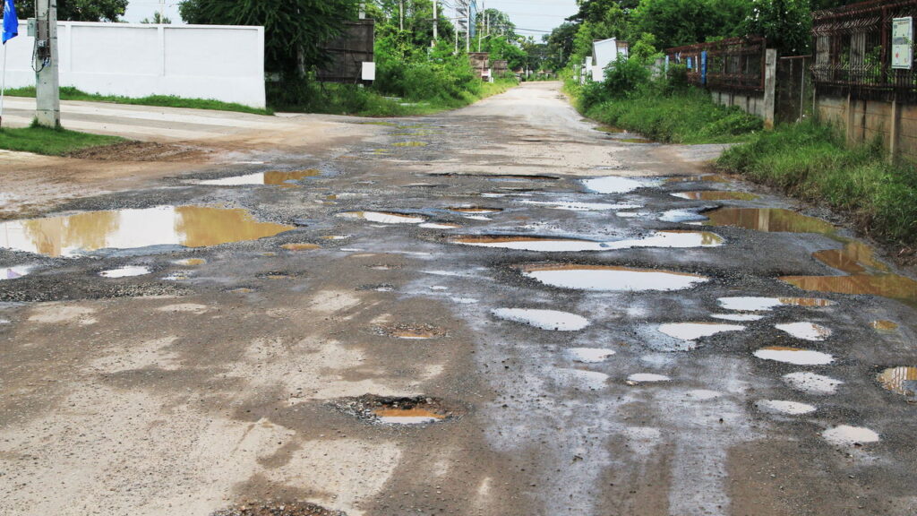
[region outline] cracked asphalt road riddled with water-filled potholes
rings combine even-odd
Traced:
[[[6,212],[0,514],[917,512],[917,290],[830,213],[558,84],[367,122]]]

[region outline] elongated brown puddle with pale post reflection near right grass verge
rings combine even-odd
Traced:
[[[834,234],[834,226],[822,219],[780,208],[720,208],[704,213],[708,226],[735,226],[746,230]]]

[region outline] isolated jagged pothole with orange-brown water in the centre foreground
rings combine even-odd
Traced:
[[[423,425],[457,418],[460,411],[441,399],[414,397],[390,398],[365,395],[334,403],[337,409],[363,421],[390,425]]]

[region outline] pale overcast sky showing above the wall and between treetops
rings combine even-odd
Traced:
[[[453,1],[441,0],[441,4],[450,6]],[[180,0],[164,0],[166,17],[170,17],[173,23],[180,23],[182,20],[178,15],[179,2]],[[519,34],[534,36],[535,39],[541,39],[541,34],[550,32],[552,28],[562,24],[564,18],[577,12],[576,0],[478,0],[478,7],[483,6],[508,13],[518,27]],[[143,18],[152,17],[159,9],[159,0],[130,0],[124,19],[137,23]]]

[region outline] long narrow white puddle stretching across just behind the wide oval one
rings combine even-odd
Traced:
[[[709,231],[658,231],[645,239],[623,241],[588,241],[579,239],[558,239],[550,237],[524,237],[482,235],[465,236],[453,239],[453,243],[475,247],[493,247],[513,249],[515,251],[537,252],[586,252],[616,251],[643,247],[656,248],[691,248],[718,247],[723,245],[723,237]]]

